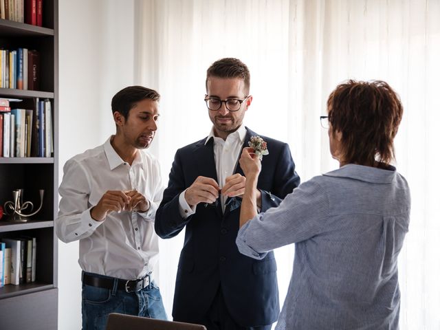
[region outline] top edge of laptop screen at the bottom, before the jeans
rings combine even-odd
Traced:
[[[106,330],[206,330],[203,325],[156,320],[119,313],[109,314]]]

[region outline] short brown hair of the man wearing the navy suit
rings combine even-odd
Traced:
[[[241,78],[245,82],[245,93],[250,90],[250,72],[248,66],[238,58],[221,58],[212,63],[206,70],[206,91],[208,91],[208,78]]]

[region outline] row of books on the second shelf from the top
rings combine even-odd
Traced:
[[[39,89],[40,55],[36,50],[0,50],[0,88]]]

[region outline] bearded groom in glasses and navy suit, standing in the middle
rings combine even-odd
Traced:
[[[163,239],[186,227],[173,318],[208,330],[270,329],[279,314],[274,253],[256,261],[235,244],[246,180],[238,160],[257,135],[243,125],[249,90],[248,67],[238,59],[222,58],[209,67],[205,101],[212,129],[177,151],[156,212],[155,230]],[[263,139],[269,155],[256,191],[260,212],[278,206],[300,183],[289,146]]]

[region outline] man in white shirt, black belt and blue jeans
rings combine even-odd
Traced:
[[[114,312],[166,319],[153,281],[164,188],[159,163],[140,151],[155,136],[159,98],[140,86],[119,91],[111,100],[116,134],[64,166],[56,234],[80,240],[83,330],[105,329]]]

